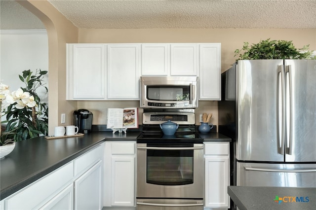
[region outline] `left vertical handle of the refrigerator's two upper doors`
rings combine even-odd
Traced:
[[[284,66],[277,68],[277,153],[284,155],[285,140],[285,78]]]

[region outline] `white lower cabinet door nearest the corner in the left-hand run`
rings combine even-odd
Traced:
[[[75,181],[75,210],[102,209],[101,163],[96,163]]]

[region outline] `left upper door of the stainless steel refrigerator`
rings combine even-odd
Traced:
[[[283,60],[238,61],[238,160],[284,161],[284,154],[281,154],[284,143],[281,143],[280,117],[283,110],[282,78]]]

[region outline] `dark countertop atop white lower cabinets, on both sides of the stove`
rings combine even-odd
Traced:
[[[112,134],[97,131],[82,137],[46,140],[44,137],[16,142],[0,160],[0,200],[79,157],[106,140],[136,140],[140,131]],[[231,141],[216,132],[199,134],[205,141]]]

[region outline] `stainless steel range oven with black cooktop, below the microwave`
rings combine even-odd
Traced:
[[[159,124],[179,125],[164,135]],[[195,113],[145,112],[137,138],[137,210],[202,210],[203,140],[196,136]]]

